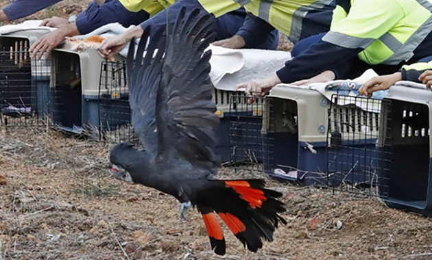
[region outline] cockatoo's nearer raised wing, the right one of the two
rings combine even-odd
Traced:
[[[208,73],[211,52],[204,53],[215,39],[214,18],[193,10],[167,25],[163,78],[156,99],[158,155],[175,156],[206,170],[219,166],[214,154],[219,124],[211,101],[213,85]]]

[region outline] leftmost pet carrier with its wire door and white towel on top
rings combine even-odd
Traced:
[[[49,114],[51,62],[32,59],[29,47],[45,29],[0,36],[0,112],[4,125],[42,124]]]

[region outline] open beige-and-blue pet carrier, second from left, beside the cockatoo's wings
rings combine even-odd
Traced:
[[[117,55],[115,60],[118,62],[112,66],[124,66],[122,57]],[[69,133],[91,135],[98,134],[99,127],[108,127],[110,122],[104,126],[99,120],[99,96],[108,91],[104,88],[99,92],[100,80],[105,77],[103,70],[106,70],[106,79],[117,84],[117,90],[121,89],[119,96],[115,98],[124,99],[125,97],[121,96],[121,93],[127,93],[123,82],[124,70],[109,67],[93,48],[73,51],[69,44],[52,51],[51,66],[51,99],[55,101],[52,103],[54,127]]]

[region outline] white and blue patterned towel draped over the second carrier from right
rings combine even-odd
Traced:
[[[379,113],[380,112],[380,103],[371,103],[361,102],[360,99],[352,99],[354,96],[359,96],[359,88],[363,83],[372,79],[372,77],[378,76],[374,70],[368,69],[366,70],[360,77],[355,79],[344,79],[344,80],[335,80],[328,82],[319,82],[319,83],[309,83],[302,86],[296,86],[291,84],[278,84],[276,86],[288,87],[288,88],[305,88],[310,90],[316,90],[320,92],[323,96],[326,97],[329,101],[334,101],[332,96],[334,94],[338,94],[337,105],[356,105],[357,107],[368,111]],[[389,93],[388,90],[381,90],[374,92],[372,94],[373,99],[383,99]]]

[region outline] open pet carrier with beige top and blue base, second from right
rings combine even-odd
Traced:
[[[362,136],[350,136],[352,142],[347,142],[348,137],[344,129],[333,131],[329,127],[328,120],[334,123],[333,112],[362,113],[357,107],[345,107],[332,105],[325,96],[315,90],[276,86],[267,97],[267,113],[264,120],[265,131],[265,161],[264,169],[270,177],[299,181],[304,185],[339,185],[341,181],[353,183],[368,183],[369,179],[363,178],[361,168],[355,168],[346,177],[341,177],[341,170],[352,165],[339,162],[339,154],[349,155],[358,146],[368,146],[372,152],[367,151],[364,156],[373,157],[375,140],[360,140]],[[342,112],[340,112],[342,113]],[[368,112],[364,113],[368,116]],[[374,114],[375,115],[375,114]],[[345,116],[345,115],[344,115]],[[344,118],[345,119],[345,118]],[[342,124],[346,123],[345,121]],[[361,126],[363,127],[363,126]],[[332,141],[328,144],[327,133],[333,134]],[[369,133],[369,132],[368,132]],[[337,142],[336,142],[337,141]],[[333,145],[328,148],[329,145]],[[339,146],[337,146],[339,145]],[[331,151],[331,155],[329,155]],[[356,155],[357,156],[357,155]],[[351,159],[357,159],[354,156]],[[348,156],[349,157],[349,156]],[[332,174],[328,174],[331,170]],[[339,170],[339,172],[337,172]],[[340,174],[339,174],[340,173]],[[329,178],[330,177],[330,178]]]

